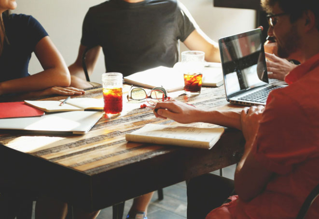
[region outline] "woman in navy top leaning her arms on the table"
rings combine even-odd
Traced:
[[[41,24],[32,16],[9,15],[8,10],[16,7],[15,0],[0,0],[0,101],[53,94],[67,96],[83,94],[84,91],[81,89],[68,87],[71,81],[69,70]],[[35,75],[28,73],[32,52],[36,54],[44,69]],[[23,204],[29,203],[29,200],[24,200],[29,196],[27,191],[26,194],[18,191],[17,194],[8,195],[0,192],[0,218],[12,218],[2,215],[2,205],[8,207],[4,214],[12,216],[12,212],[20,214]],[[42,199],[45,198],[40,197],[40,200]],[[37,206],[36,218],[65,218],[66,204],[60,204],[52,199],[40,203],[40,206]],[[47,209],[54,212],[47,212]],[[75,216],[79,219],[95,218],[97,214],[98,212],[86,213],[79,209],[75,211]]]

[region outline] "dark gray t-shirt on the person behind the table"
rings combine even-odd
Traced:
[[[160,65],[172,67],[178,61],[178,40],[195,30],[186,14],[177,0],[108,0],[87,12],[81,44],[103,48],[107,72],[128,76]]]

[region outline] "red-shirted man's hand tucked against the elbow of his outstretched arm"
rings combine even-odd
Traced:
[[[255,139],[264,109],[263,106],[252,106],[250,108],[245,107],[241,111],[241,130],[246,142],[252,143]]]

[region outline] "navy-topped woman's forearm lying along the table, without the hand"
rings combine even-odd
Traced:
[[[67,87],[70,82],[67,70],[50,68],[35,75],[1,82],[0,94],[39,91],[53,86]]]

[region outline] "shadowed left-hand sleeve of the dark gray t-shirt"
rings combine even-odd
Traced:
[[[93,13],[92,10],[90,9],[83,20],[83,25],[82,25],[82,38],[81,38],[81,44],[83,46],[87,47],[94,47],[98,45],[98,40],[97,40],[97,33],[95,32],[94,29],[94,18],[93,18]]]

